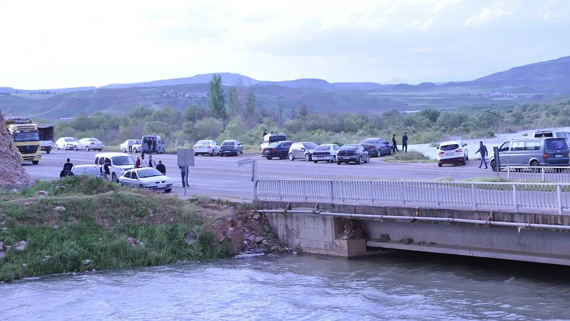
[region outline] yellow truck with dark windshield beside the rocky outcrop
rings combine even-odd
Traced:
[[[38,126],[32,123],[30,117],[7,116],[6,130],[12,137],[12,141],[22,162],[31,161],[38,165],[42,160],[42,150],[39,145]]]

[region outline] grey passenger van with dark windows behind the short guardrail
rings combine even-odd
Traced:
[[[492,155],[492,154],[491,154]],[[499,147],[500,168],[507,166],[568,166],[568,144],[563,138],[527,138],[505,141]],[[490,159],[496,172],[495,157]]]

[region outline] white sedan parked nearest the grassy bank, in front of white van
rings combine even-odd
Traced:
[[[165,193],[172,191],[170,178],[158,172],[156,168],[135,168],[127,170],[119,178],[121,186],[145,188],[149,190],[164,190]]]

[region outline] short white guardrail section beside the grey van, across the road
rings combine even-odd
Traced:
[[[552,166],[509,166],[506,169],[507,180],[535,182],[570,182],[570,167]]]

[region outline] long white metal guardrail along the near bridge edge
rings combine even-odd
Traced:
[[[570,206],[570,184],[364,180],[255,181],[255,200],[366,202],[435,208],[551,210]]]

